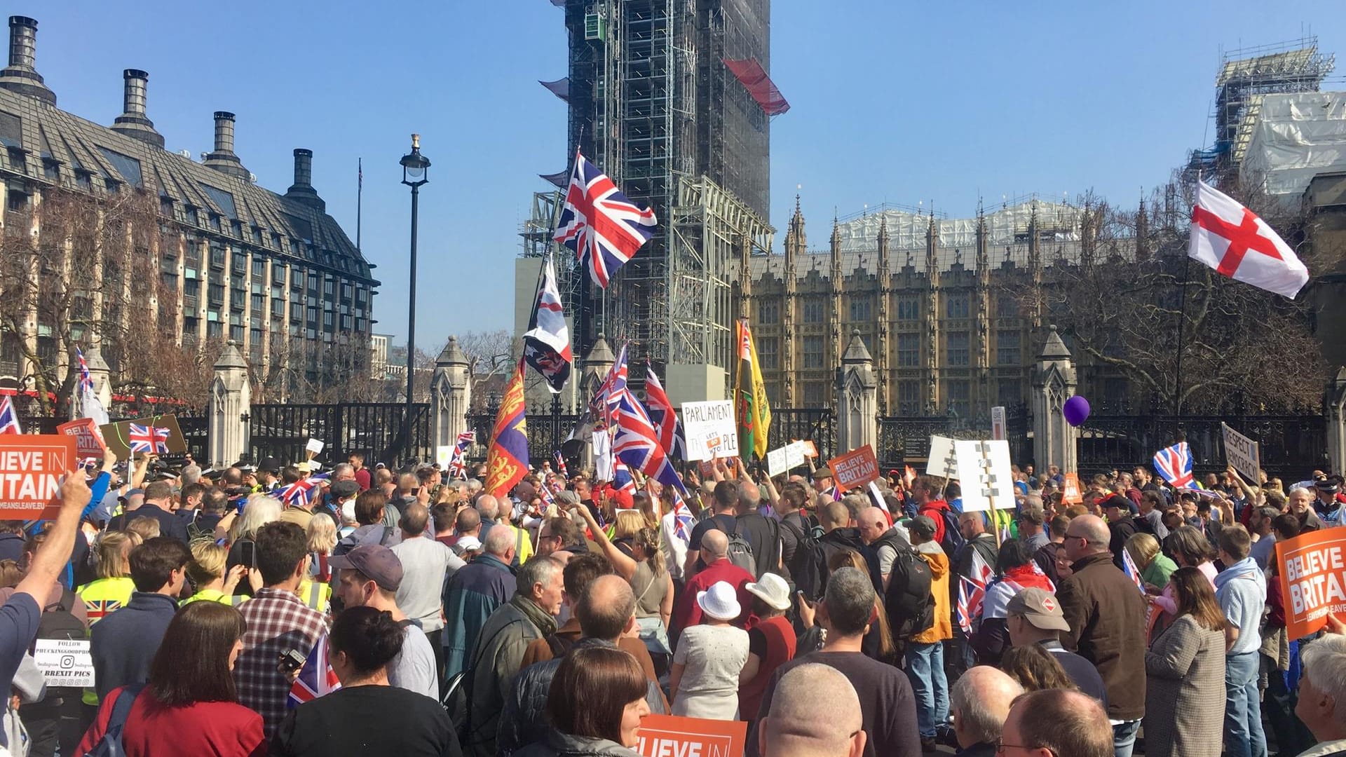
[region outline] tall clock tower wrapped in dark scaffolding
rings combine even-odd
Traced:
[[[739,259],[770,251],[774,232],[770,119],[789,105],[767,75],[770,1],[568,0],[564,7],[568,158],[579,144],[660,221],[607,291],[581,268],[561,267],[575,353],[587,354],[604,333],[614,349],[630,343],[633,378],[643,377],[641,358],[661,370],[725,368]]]

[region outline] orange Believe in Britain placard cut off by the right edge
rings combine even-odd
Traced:
[[[1346,613],[1346,529],[1324,528],[1276,543],[1285,634],[1303,638]]]

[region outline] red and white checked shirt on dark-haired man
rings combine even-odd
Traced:
[[[285,718],[291,687],[289,679],[277,668],[280,656],[295,649],[307,657],[318,637],[327,632],[327,622],[322,613],[304,605],[293,591],[281,589],[258,590],[238,606],[238,612],[248,621],[244,651],[234,661],[238,702],[261,714],[269,739]]]

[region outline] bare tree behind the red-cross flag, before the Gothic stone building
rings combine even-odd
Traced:
[[[1233,193],[1295,245],[1299,213]],[[1020,292],[1073,341],[1077,356],[1124,376],[1152,412],[1316,408],[1324,366],[1307,298],[1289,300],[1187,257],[1191,186],[1171,183],[1149,209],[1121,211],[1082,198],[1077,260],[1046,260],[1039,290]],[[1300,246],[1315,269],[1322,251]],[[1082,354],[1081,354],[1082,353]]]

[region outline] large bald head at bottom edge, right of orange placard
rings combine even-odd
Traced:
[[[758,737],[762,757],[857,757],[865,742],[860,698],[836,668],[800,665],[781,676]]]

